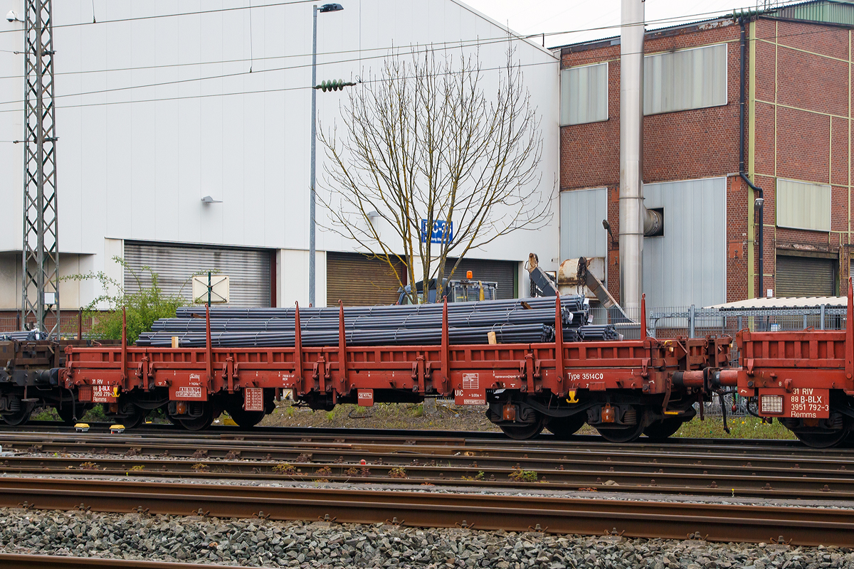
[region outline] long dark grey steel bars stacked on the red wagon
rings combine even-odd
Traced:
[[[347,345],[438,345],[442,343],[442,306],[357,306],[343,309]],[[586,336],[577,330],[588,323],[588,305],[581,296],[560,299],[560,320],[566,341]],[[140,334],[137,345],[206,345],[208,326],[204,307],[178,309],[175,318],[161,318],[150,332]],[[461,302],[447,305],[447,334],[451,344],[487,344],[489,333],[500,344],[527,344],[554,340],[555,299],[514,299]],[[338,345],[341,311],[337,307],[301,308],[301,345]],[[211,345],[282,346],[295,344],[295,308],[210,309]],[[592,339],[608,340],[600,328]],[[611,327],[612,328],[612,327]],[[598,332],[598,334],[594,334]],[[575,335],[573,335],[575,334]],[[579,340],[572,340],[577,337]]]

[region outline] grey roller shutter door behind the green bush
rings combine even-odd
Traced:
[[[157,274],[157,282],[165,293],[180,294],[189,304],[193,296],[190,276],[197,271],[219,270],[229,277],[230,306],[270,306],[271,252],[264,249],[180,247],[125,241],[125,261],[128,293],[137,292],[139,284],[151,286],[149,272],[143,270],[143,266],[149,266]]]

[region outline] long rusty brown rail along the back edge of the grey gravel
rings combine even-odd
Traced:
[[[850,546],[854,510],[553,496],[0,479],[0,506]]]

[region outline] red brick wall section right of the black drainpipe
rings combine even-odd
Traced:
[[[851,243],[851,32],[757,20],[755,42],[754,169],[765,190],[763,288],[775,288],[776,255],[787,251],[833,254],[845,279]],[[776,227],[777,177],[831,185],[829,233]]]

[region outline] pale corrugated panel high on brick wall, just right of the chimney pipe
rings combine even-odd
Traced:
[[[644,114],[727,104],[727,44],[644,58]]]

